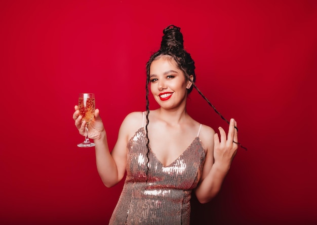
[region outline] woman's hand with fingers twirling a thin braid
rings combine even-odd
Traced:
[[[238,145],[237,143],[237,131],[236,121],[230,120],[228,137],[222,127],[219,127],[220,140],[217,133],[214,135],[214,160],[215,163],[220,163],[223,167],[230,167],[231,162],[236,155]],[[236,143],[234,143],[234,142]]]

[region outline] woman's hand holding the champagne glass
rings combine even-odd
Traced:
[[[78,106],[75,105],[75,111],[72,118],[75,121],[75,126],[78,129],[79,133],[83,136],[86,135],[86,121],[83,121],[83,117],[80,115]],[[88,137],[91,139],[99,139],[101,134],[105,132],[102,120],[99,115],[99,109],[95,110],[95,115],[92,121],[88,125]]]

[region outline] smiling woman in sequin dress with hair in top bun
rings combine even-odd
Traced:
[[[187,114],[195,67],[179,27],[164,29],[161,49],[146,67],[147,110],[124,119],[111,153],[98,109],[89,124],[103,183],[111,187],[127,172],[110,224],[189,224],[191,191],[206,203],[220,190],[238,147],[236,122],[230,120],[228,135],[219,127],[219,138]],[[148,87],[160,105],[155,110],[149,110]],[[84,135],[78,106],[73,119]]]

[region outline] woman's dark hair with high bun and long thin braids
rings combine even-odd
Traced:
[[[199,94],[208,102],[208,104],[216,111],[216,113],[229,124],[229,121],[226,120],[220,113],[217,111],[217,109],[210,103],[210,101],[205,97],[205,95],[196,87],[195,81],[196,81],[196,75],[195,75],[195,63],[193,59],[191,58],[190,54],[186,52],[184,49],[184,40],[183,40],[183,34],[180,32],[180,27],[169,25],[163,30],[163,37],[161,42],[161,48],[160,50],[156,51],[151,55],[148,62],[146,63],[146,138],[147,138],[147,149],[149,152],[149,138],[148,138],[148,130],[147,126],[149,123],[148,115],[149,115],[149,99],[148,99],[148,86],[150,81],[150,65],[151,63],[159,59],[162,56],[170,56],[173,58],[176,62],[176,65],[180,70],[183,71],[184,76],[187,80],[190,80],[189,76],[192,75],[193,79],[191,80],[191,87],[187,89],[187,93],[189,94],[192,91],[192,88],[194,87]],[[235,127],[237,130],[237,128]],[[241,147],[243,147],[239,142],[234,142],[239,144]],[[245,148],[245,147],[243,147]],[[245,148],[246,149],[246,148]],[[147,154],[148,154],[147,152]]]

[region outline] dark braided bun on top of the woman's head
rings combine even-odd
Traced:
[[[161,42],[161,51],[175,52],[184,49],[183,34],[180,32],[180,27],[169,25],[163,30]]]

